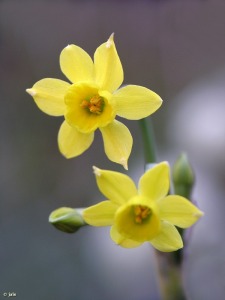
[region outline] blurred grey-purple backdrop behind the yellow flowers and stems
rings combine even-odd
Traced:
[[[100,134],[82,156],[57,148],[61,118],[42,113],[25,93],[36,81],[66,80],[59,54],[76,44],[93,56],[115,32],[124,84],[146,86],[164,100],[152,117],[159,160],[185,151],[196,172],[193,197],[205,212],[184,264],[191,300],[225,294],[225,2],[0,1],[0,299],[159,300],[154,251],[122,249],[109,228],[69,235],[48,223],[61,206],[103,200],[92,165],[123,172],[106,159]],[[136,121],[129,175],[144,161]]]

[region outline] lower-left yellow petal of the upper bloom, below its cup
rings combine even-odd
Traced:
[[[93,139],[94,133],[81,133],[64,121],[58,134],[59,150],[66,158],[72,158],[87,150]]]

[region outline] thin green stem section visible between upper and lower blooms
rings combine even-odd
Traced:
[[[139,121],[142,133],[142,140],[144,145],[145,163],[156,162],[156,143],[154,137],[154,130],[150,118],[144,118]]]

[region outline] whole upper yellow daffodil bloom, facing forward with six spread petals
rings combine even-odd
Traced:
[[[82,48],[67,46],[60,55],[60,67],[72,84],[45,78],[27,92],[43,112],[64,116],[58,134],[61,153],[66,158],[82,154],[99,128],[108,158],[127,168],[133,140],[128,128],[115,117],[145,118],[161,106],[161,98],[137,85],[118,89],[123,82],[123,68],[113,34],[97,48],[94,61]]]

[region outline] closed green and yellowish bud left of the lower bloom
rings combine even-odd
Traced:
[[[49,222],[58,230],[74,233],[80,227],[87,225],[82,217],[83,209],[60,207],[49,216]]]

